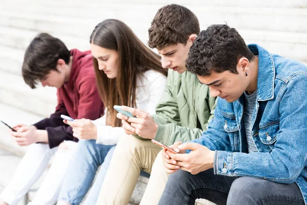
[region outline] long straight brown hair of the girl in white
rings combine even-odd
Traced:
[[[93,58],[98,92],[107,108],[106,124],[120,127],[114,105],[136,107],[137,76],[155,70],[167,75],[161,66],[161,57],[147,48],[134,32],[123,22],[107,19],[98,24],[90,39],[91,44],[116,50],[119,55],[119,69],[116,78],[108,78],[98,69],[98,61]]]

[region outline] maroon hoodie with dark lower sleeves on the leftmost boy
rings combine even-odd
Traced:
[[[49,147],[59,146],[63,140],[78,141],[73,137],[72,127],[63,123],[61,114],[74,119],[97,119],[103,115],[104,107],[100,99],[93,68],[91,51],[70,51],[73,64],[70,78],[61,88],[57,89],[58,105],[55,113],[34,126],[39,130],[47,130]]]

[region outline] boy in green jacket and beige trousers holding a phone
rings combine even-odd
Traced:
[[[148,139],[172,145],[199,138],[207,129],[215,98],[185,67],[189,48],[199,33],[198,18],[189,9],[168,5],[158,10],[149,28],[148,44],[158,49],[162,66],[169,69],[166,91],[154,116],[128,107],[122,108],[137,118],[117,115],[128,135],[116,146],[97,204],[127,204],[141,170],[151,173],[141,203],[158,204],[168,176],[158,154],[161,147]]]

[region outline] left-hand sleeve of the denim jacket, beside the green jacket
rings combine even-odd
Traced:
[[[190,142],[196,142],[203,146],[206,146],[208,149],[215,150],[226,150],[231,152],[231,143],[228,133],[224,130],[225,118],[221,111],[221,106],[223,102],[221,98],[217,99],[217,106],[214,110],[214,117],[208,125],[208,130],[206,130],[201,138],[194,139]],[[186,153],[189,153],[190,150],[187,150]]]

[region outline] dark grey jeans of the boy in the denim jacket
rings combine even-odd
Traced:
[[[303,196],[296,183],[214,175],[213,169],[196,175],[182,170],[171,174],[159,204],[194,205],[197,198],[204,198],[219,205],[304,205]]]

